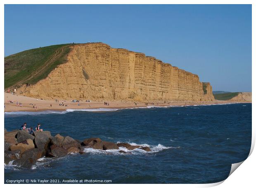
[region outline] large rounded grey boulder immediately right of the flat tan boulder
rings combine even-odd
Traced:
[[[51,141],[50,139],[51,136],[49,136],[49,134],[45,132],[47,131],[37,132],[34,142],[35,142],[36,148],[44,149],[45,151],[47,151],[48,145]]]

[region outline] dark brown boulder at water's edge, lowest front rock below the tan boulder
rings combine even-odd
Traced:
[[[43,157],[43,153],[44,151],[42,149],[29,149],[22,153],[21,158],[15,160],[12,164],[30,169],[33,165],[36,165],[36,160]]]

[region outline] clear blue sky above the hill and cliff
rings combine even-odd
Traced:
[[[5,56],[70,42],[154,56],[213,91],[251,91],[251,5],[5,5]]]

